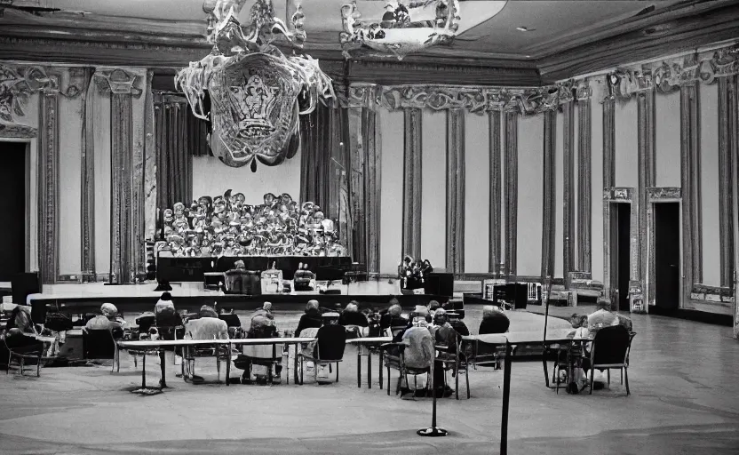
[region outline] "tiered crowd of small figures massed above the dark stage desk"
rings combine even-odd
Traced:
[[[287,193],[267,193],[264,204],[250,205],[229,189],[189,207],[174,204],[163,212],[163,241],[159,250],[179,257],[344,255],[334,221]]]

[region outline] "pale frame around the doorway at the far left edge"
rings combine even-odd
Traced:
[[[0,142],[26,144],[26,245],[25,271],[38,270],[38,159],[36,139],[0,137]]]

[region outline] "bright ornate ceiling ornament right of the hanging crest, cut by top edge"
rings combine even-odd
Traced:
[[[457,0],[422,0],[409,4],[387,2],[381,19],[362,23],[359,20],[361,16],[356,0],[341,5],[344,31],[339,35],[339,41],[346,59],[352,57],[351,51],[363,46],[392,53],[402,60],[410,52],[436,44],[450,44],[457,35],[460,20]],[[417,20],[422,17],[425,19]]]

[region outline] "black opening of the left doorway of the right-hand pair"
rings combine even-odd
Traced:
[[[616,291],[619,311],[629,311],[631,277],[632,204],[611,203],[610,269],[611,289]]]

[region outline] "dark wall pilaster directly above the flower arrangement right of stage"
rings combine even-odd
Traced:
[[[403,254],[421,259],[422,111],[404,109],[403,152]]]

